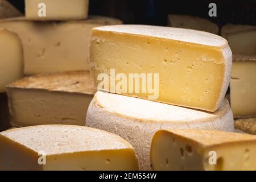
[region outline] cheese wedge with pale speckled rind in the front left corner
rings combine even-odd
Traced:
[[[0,133],[0,170],[137,170],[133,147],[117,135],[73,125]]]

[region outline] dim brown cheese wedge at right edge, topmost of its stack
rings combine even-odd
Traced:
[[[233,54],[256,55],[256,26],[226,24],[221,36],[228,40]]]

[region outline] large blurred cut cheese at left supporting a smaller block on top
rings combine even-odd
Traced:
[[[89,37],[93,27],[120,24],[101,16],[69,22],[31,22],[24,18],[0,20],[0,27],[16,32],[24,47],[24,73],[89,70]]]

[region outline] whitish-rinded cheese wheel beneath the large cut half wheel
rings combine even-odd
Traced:
[[[126,139],[138,156],[140,169],[149,170],[150,143],[159,129],[209,129],[234,131],[232,111],[227,100],[215,113],[187,109],[97,92],[88,108],[86,126],[109,131]]]

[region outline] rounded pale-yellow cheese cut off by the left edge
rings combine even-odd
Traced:
[[[0,28],[0,93],[6,85],[23,77],[22,42],[14,32]]]

